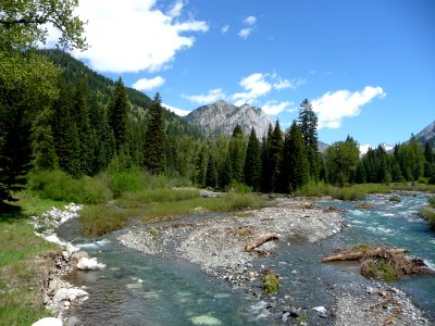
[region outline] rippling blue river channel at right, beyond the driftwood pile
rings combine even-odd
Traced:
[[[372,209],[360,210],[362,202],[321,202],[321,206],[347,210],[349,228],[338,236],[339,246],[377,243],[407,248],[410,256],[419,256],[435,267],[435,233],[418,217],[419,210],[427,203],[427,196],[400,196],[399,203],[388,201],[388,196],[373,196],[364,201]],[[428,316],[435,318],[435,277],[409,276],[393,284],[408,292]]]

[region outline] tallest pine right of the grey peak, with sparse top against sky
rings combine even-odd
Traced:
[[[304,99],[299,108],[299,126],[306,146],[310,176],[314,180],[319,180],[320,153],[318,149],[318,117],[308,99]]]

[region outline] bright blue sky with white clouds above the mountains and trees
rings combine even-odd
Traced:
[[[321,140],[405,141],[435,120],[433,0],[82,0],[91,68],[186,111],[251,103]]]

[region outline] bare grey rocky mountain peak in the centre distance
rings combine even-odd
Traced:
[[[249,135],[253,127],[259,138],[268,133],[272,124],[269,115],[259,108],[249,104],[236,106],[225,101],[198,108],[186,116],[186,121],[207,135],[232,135],[237,124],[245,135]]]

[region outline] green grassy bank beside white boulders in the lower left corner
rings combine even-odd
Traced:
[[[39,287],[52,262],[41,256],[59,248],[36,237],[28,221],[65,204],[33,197],[29,191],[16,198],[17,203],[2,205],[0,213],[0,325],[32,325],[49,315]]]

